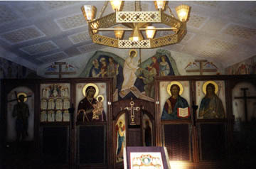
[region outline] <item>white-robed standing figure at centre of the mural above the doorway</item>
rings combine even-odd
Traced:
[[[124,81],[122,83],[121,92],[125,89],[132,89],[134,82],[137,79],[135,75],[136,70],[139,68],[140,60],[136,61],[137,50],[129,50],[129,56],[124,61],[123,75]]]

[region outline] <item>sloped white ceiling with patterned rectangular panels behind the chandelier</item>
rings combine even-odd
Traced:
[[[100,13],[105,1],[0,1],[0,55],[33,70],[40,65],[105,48],[92,43],[80,7]],[[164,47],[223,63],[256,55],[256,1],[169,1],[191,6],[188,33],[181,43]],[[141,1],[142,11],[155,11]],[[134,11],[125,1],[123,11]],[[112,13],[110,3],[103,15]],[[168,13],[168,11],[166,11]]]

